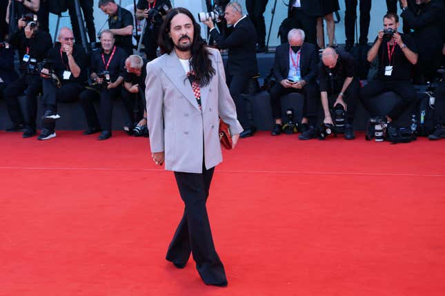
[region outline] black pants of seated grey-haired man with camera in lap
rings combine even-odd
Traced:
[[[119,85],[113,89],[103,89],[97,92],[93,89],[85,89],[79,96],[79,101],[85,113],[88,127],[102,128],[105,131],[111,131],[112,124],[112,104],[121,96],[122,86]],[[100,100],[99,118],[97,118],[95,105],[93,101]]]

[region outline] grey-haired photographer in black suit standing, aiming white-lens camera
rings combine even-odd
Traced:
[[[219,34],[212,19],[208,19],[204,23],[210,28],[210,35],[217,42],[219,48],[228,48],[226,83],[237,106],[238,120],[244,128],[240,136],[246,138],[253,136],[257,130],[248,120],[246,103],[241,96],[241,92],[248,85],[250,78],[258,74],[255,54],[257,33],[252,21],[243,15],[241,6],[237,2],[227,4],[224,17],[228,25],[233,25],[233,31],[227,38]]]

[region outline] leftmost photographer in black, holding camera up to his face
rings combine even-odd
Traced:
[[[39,30],[38,23],[26,23],[20,19],[18,30],[10,36],[10,45],[19,50],[20,76],[6,87],[4,96],[13,126],[10,131],[19,131],[26,124],[23,138],[36,134],[37,95],[41,92],[41,78],[37,63],[43,61],[52,47],[51,36]],[[26,120],[20,109],[18,97],[26,91]]]

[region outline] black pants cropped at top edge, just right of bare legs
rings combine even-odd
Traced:
[[[360,1],[360,36],[359,43],[368,43],[368,32],[370,22],[371,0]],[[346,34],[346,45],[355,42],[355,19],[357,19],[357,0],[345,0],[346,11],[344,12],[344,31]]]

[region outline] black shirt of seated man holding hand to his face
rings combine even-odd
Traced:
[[[68,83],[68,82],[76,82],[76,83],[85,83],[87,80],[87,56],[85,53],[85,50],[83,50],[83,47],[81,45],[75,44],[72,49],[72,56],[75,59],[75,62],[80,67],[80,75],[79,77],[75,78],[74,75],[71,74],[69,80],[63,79],[63,72],[70,71],[70,66],[68,64],[68,56],[66,56],[65,52],[60,52],[61,43],[57,42],[55,47],[50,50],[48,53],[48,59],[50,59],[54,63],[54,70],[57,77],[59,77],[61,83]]]

